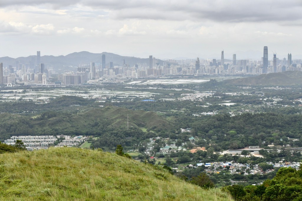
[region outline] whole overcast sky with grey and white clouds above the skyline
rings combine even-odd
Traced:
[[[301,0],[1,0],[0,57],[210,58],[224,50],[260,59],[268,46],[269,58],[302,58],[301,11]]]

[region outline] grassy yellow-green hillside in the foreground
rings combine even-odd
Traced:
[[[231,200],[116,154],[51,148],[0,155],[0,200]]]

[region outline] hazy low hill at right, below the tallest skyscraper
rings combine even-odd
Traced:
[[[302,84],[302,72],[285,71],[282,73],[269,73],[269,74],[262,74],[256,77],[224,80],[223,82],[226,84],[234,84],[234,85],[288,86],[288,85]]]

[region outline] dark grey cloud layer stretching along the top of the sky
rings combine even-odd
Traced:
[[[283,23],[301,20],[301,0],[3,0],[0,7],[7,6],[49,6],[57,14],[65,14],[61,8],[90,7],[87,16],[107,16],[113,19],[154,19],[154,20],[211,20],[225,22],[269,21]],[[61,10],[60,10],[61,9]],[[47,8],[43,12],[47,11]],[[71,9],[72,10],[72,9]],[[105,11],[106,10],[106,11]],[[97,14],[98,11],[101,14]],[[94,13],[95,12],[95,13]],[[107,13],[108,12],[108,13]]]

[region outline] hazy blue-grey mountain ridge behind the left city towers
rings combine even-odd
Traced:
[[[91,53],[91,52],[74,52],[66,56],[41,56],[41,62],[47,65],[52,65],[54,68],[62,68],[63,66],[79,66],[79,64],[90,64],[90,62],[102,63],[102,55],[106,55],[106,66],[109,66],[109,62],[113,62],[113,65],[121,66],[123,64],[123,59],[125,59],[126,64],[133,66],[134,64],[149,64],[149,58],[138,58],[138,57],[128,57],[116,55],[109,52],[102,53]],[[16,66],[16,61],[19,61],[20,64],[35,63],[37,59],[36,55],[31,55],[28,57],[1,57],[0,62],[3,63],[4,67],[8,65]],[[159,64],[163,64],[162,60],[156,60]]]

